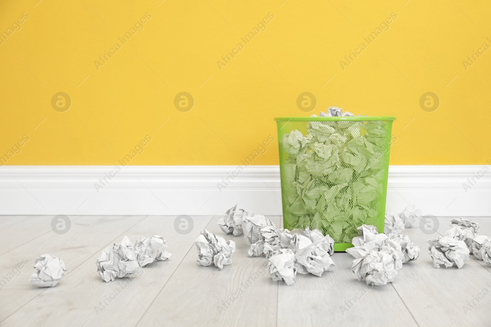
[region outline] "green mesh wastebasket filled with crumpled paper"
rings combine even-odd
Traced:
[[[383,232],[394,117],[282,117],[278,126],[283,226],[318,228],[334,251],[356,227]]]

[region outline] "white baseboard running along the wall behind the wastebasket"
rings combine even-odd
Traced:
[[[464,191],[482,165],[390,166],[387,212],[408,203],[435,216],[491,216],[491,173]],[[0,215],[217,215],[239,203],[281,215],[278,166],[2,166]],[[236,173],[234,173],[236,175]],[[104,186],[96,190],[95,183]],[[468,184],[471,186],[470,184]]]

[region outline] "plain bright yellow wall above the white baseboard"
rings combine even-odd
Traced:
[[[0,155],[28,137],[7,164],[113,165],[149,135],[131,164],[235,165],[276,138],[273,117],[328,106],[396,116],[391,164],[491,159],[491,50],[463,63],[491,46],[490,1],[160,1],[0,2],[0,32],[28,15],[0,45]],[[143,29],[118,40],[145,13]],[[241,40],[268,13],[266,30]],[[57,92],[69,110],[52,107]],[[191,111],[174,107],[180,92]],[[317,98],[314,111],[297,107],[302,92]],[[426,92],[440,99],[434,112],[419,105]],[[275,140],[254,164],[277,163]]]

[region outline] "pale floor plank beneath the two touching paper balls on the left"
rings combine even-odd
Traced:
[[[195,228],[202,228],[210,217],[193,217]],[[115,225],[114,222],[112,225]],[[139,237],[162,234],[169,240],[168,252],[173,256],[164,262],[156,262],[142,270],[142,274],[134,280],[118,278],[113,282],[104,282],[96,272],[95,260],[106,246],[120,242],[123,234],[110,240],[98,249],[88,260],[76,267],[67,277],[54,288],[48,288],[38,297],[23,306],[41,326],[70,325],[72,321],[80,321],[85,326],[135,326],[145,312],[144,306],[150,305],[159,290],[173,274],[186,252],[193,245],[191,234],[181,235],[174,230],[174,217],[147,217],[140,220],[123,234],[132,242]],[[87,251],[93,248],[87,240],[81,240]],[[87,252],[87,255],[90,255]],[[118,289],[119,294],[115,294]],[[108,297],[114,298],[107,300]],[[101,304],[100,301],[106,302]],[[45,310],[46,303],[57,310]],[[98,309],[96,309],[96,306]],[[102,308],[102,310],[101,310]],[[12,317],[13,318],[13,317]],[[11,322],[7,319],[5,324]],[[82,325],[81,324],[81,325]]]

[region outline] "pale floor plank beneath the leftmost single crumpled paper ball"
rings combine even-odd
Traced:
[[[32,266],[36,257],[43,253],[51,253],[62,258],[65,262],[65,267],[74,271],[84,261],[90,259],[92,254],[101,251],[115,237],[124,233],[142,219],[144,219],[143,216],[83,217],[80,220],[75,220],[71,230],[64,235],[58,235],[53,231],[44,233],[2,254],[0,256],[0,276],[2,279],[8,277],[8,273],[12,272],[15,265],[22,262],[23,258],[26,258],[28,263],[20,269],[19,274],[14,274],[14,277],[8,283],[2,284],[3,287],[0,290],[1,320],[8,318],[12,313],[20,310],[20,306],[25,306],[39,294],[48,290],[48,288],[38,288],[29,282],[29,276],[35,271]],[[31,224],[28,224],[28,226],[31,226]],[[92,258],[90,260],[95,261],[96,259]],[[62,288],[65,280],[70,279],[70,274],[67,274],[52,290]]]

